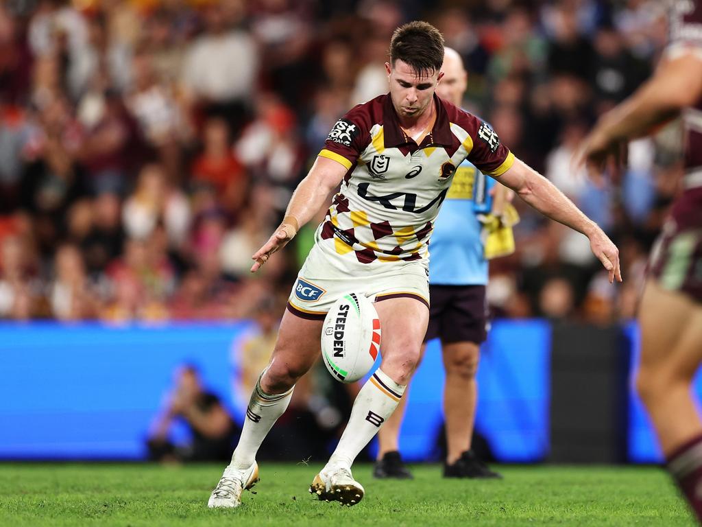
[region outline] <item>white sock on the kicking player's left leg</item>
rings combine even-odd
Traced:
[[[265,370],[263,370],[265,373]],[[290,399],[293,395],[293,388],[279,395],[265,393],[261,389],[260,381],[263,377],[261,373],[256,381],[256,387],[251,393],[249,406],[246,408],[246,419],[244,419],[244,428],[241,430],[241,437],[237,448],[232,454],[232,462],[230,467],[235,469],[247,469],[256,461],[256,453],[260,448],[261,443],[268,435],[268,432],[273,427],[273,424],[278,420],[278,417],[283,415]]]

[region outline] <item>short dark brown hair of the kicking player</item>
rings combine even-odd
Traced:
[[[395,60],[410,65],[421,76],[441,70],[444,36],[429,22],[415,20],[395,30],[390,39],[390,64]]]

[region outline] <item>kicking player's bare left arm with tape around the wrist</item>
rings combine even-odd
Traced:
[[[263,247],[251,256],[256,260],[251,266],[251,273],[256,273],[271,254],[285,247],[300,227],[317,214],[326,203],[329,194],[339,186],[346,172],[347,168],[343,164],[327,157],[317,157],[307,177],[300,181],[295,189],[283,222]]]

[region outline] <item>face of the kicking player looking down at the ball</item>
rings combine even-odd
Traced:
[[[385,63],[385,72],[390,82],[390,98],[399,117],[416,119],[424,113],[432,101],[437,82],[442,72],[433,72],[429,76],[418,76],[413,68],[402,60],[395,60],[395,65]]]

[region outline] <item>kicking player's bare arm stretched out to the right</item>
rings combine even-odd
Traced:
[[[585,216],[553,183],[518,159],[498,176],[498,181],[514,190],[524,202],[541,214],[587,236],[592,254],[609,271],[609,282],[612,283],[615,279],[621,282],[619,251],[614,243],[597,223]]]

